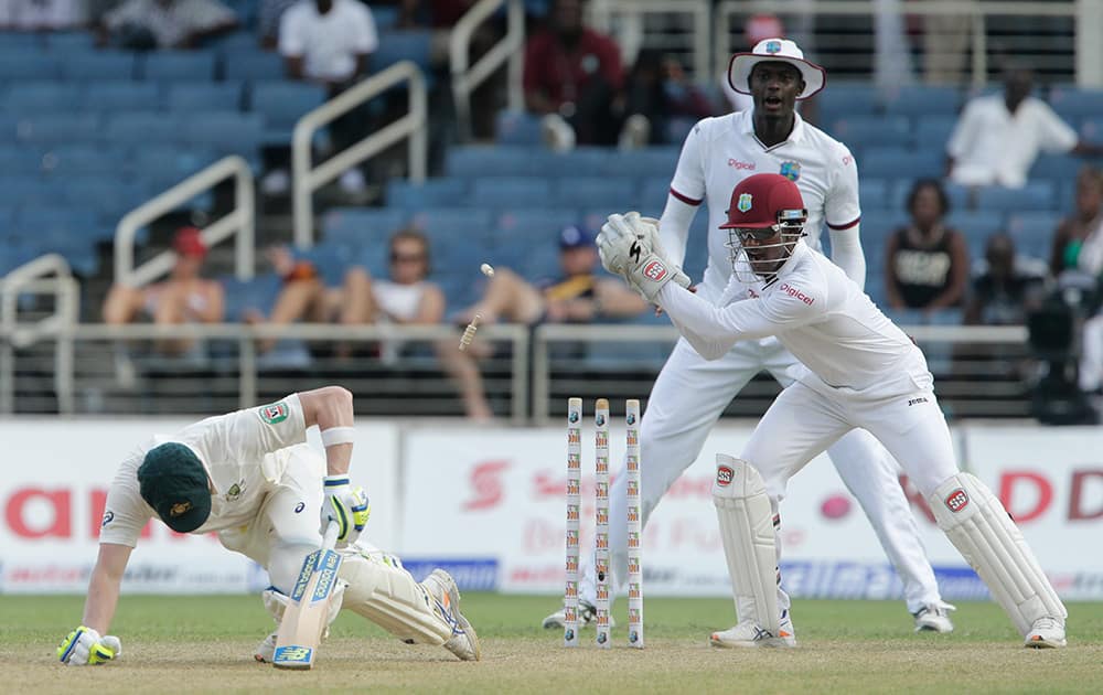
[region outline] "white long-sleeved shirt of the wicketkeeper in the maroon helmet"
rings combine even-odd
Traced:
[[[893,395],[929,388],[923,353],[874,304],[842,268],[799,242],[768,282],[732,278],[730,303],[715,306],[674,282],[660,306],[706,360],[743,340],[777,335],[804,365],[794,376],[837,395]]]

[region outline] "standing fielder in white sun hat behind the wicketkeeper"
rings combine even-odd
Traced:
[[[752,110],[699,121],[686,137],[658,222],[663,247],[675,265],[685,257],[689,225],[700,204],[708,205],[708,265],[697,293],[717,302],[731,278],[727,234],[719,228],[731,189],[746,177],[777,172],[796,182],[808,209],[807,244],[820,248],[821,226],[831,231],[832,260],[858,286],[866,261],[858,237],[858,172],[843,143],[805,122],[795,111],[799,99],[820,92],[822,67],[804,60],[792,41],[768,39],[751,53],[732,57],[731,87],[753,96]],[[688,278],[685,280],[688,284]],[[640,430],[643,460],[643,521],[675,480],[697,459],[709,430],[731,399],[759,372],[768,371],[788,387],[797,359],[773,336],[736,343],[720,359],[708,361],[679,340],[652,387]],[[903,582],[915,630],[950,632],[953,623],[939,592],[934,571],[919,539],[919,530],[900,488],[898,466],[869,432],[855,430],[827,450],[843,482],[872,524]],[[610,491],[612,518],[624,515],[624,477]],[[627,538],[614,526],[610,537],[613,586],[624,580]],[[592,563],[581,586],[583,609],[592,606]],[[583,617],[591,618],[592,610]],[[559,627],[561,613],[545,619]]]

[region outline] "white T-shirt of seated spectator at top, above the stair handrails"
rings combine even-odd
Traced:
[[[303,72],[313,79],[349,79],[356,56],[378,46],[372,11],[357,0],[333,0],[325,14],[313,0],[301,0],[280,18],[280,55],[302,57]]]

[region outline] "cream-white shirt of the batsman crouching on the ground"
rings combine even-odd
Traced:
[[[296,394],[266,406],[208,417],[172,436],[157,435],[122,461],[111,481],[99,542],[133,547],[146,523],[157,516],[138,485],[138,468],[153,447],[178,441],[203,462],[214,492],[211,516],[191,532],[202,534],[251,523],[265,495],[283,474],[287,459],[275,453],[306,440],[306,419]]]

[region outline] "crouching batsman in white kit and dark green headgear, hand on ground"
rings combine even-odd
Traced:
[[[314,425],[324,457],[306,443],[307,428]],[[210,417],[139,446],[107,493],[84,619],[57,649],[58,659],[85,665],[121,654],[119,639],[107,631],[130,554],[147,522],[158,516],[178,533],[215,532],[224,547],[268,570],[271,586],[263,600],[277,630],[260,642],[257,661],[275,657],[276,665],[309,667],[313,650],[286,642],[299,635],[280,630],[280,623],[293,631],[309,622],[313,633],[306,639],[317,642],[341,608],[408,643],[443,645],[461,660],[476,661],[479,638],[460,613],[452,577],[437,569],[418,582],[397,557],[357,541],[371,509],[363,489],[349,479],[354,431],[352,394],[325,386]],[[335,541],[335,554],[319,550],[322,530]],[[307,584],[308,555],[330,558],[328,566],[338,570],[335,581],[324,578],[328,614],[320,618],[303,616],[308,599],[321,595],[308,588],[301,596],[299,585],[313,586]],[[278,641],[291,646],[281,652]]]

